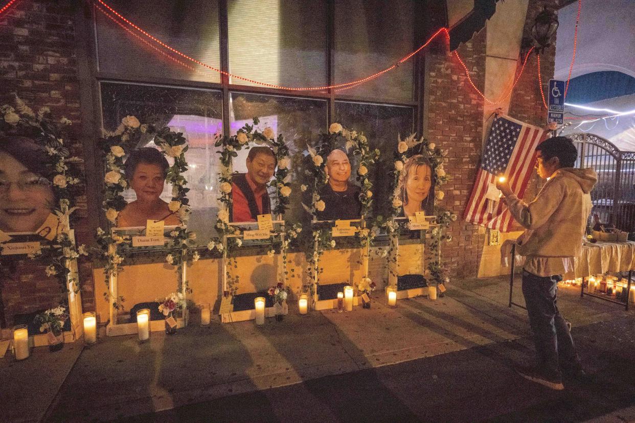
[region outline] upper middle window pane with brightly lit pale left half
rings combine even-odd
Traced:
[[[325,1],[229,0],[227,6],[232,74],[282,86],[326,84]]]

